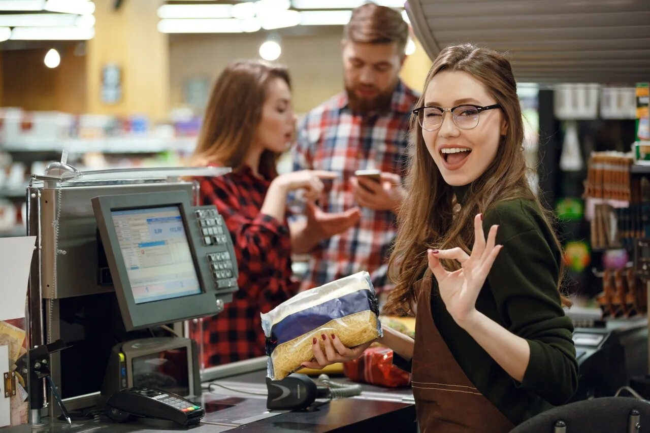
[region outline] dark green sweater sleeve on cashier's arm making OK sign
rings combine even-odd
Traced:
[[[487,280],[504,325],[530,347],[528,367],[517,386],[551,404],[564,404],[577,388],[578,365],[573,325],[557,289],[559,255],[538,228],[516,234],[504,230],[497,243],[503,248]]]

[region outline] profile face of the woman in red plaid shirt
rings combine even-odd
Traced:
[[[296,117],[291,105],[291,90],[281,78],[272,79],[266,89],[262,119],[255,133],[263,150],[282,153],[294,140]]]

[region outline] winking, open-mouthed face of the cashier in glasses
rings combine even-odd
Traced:
[[[485,86],[467,72],[443,71],[431,79],[424,92],[424,105],[452,108],[471,104],[485,107],[497,101]],[[507,124],[500,109],[482,111],[478,125],[461,129],[450,112],[443,113],[443,123],[435,131],[422,128],[422,138],[440,173],[449,185],[460,187],[476,180],[494,161],[500,137]]]

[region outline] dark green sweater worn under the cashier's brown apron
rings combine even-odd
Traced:
[[[577,387],[578,365],[573,326],[564,315],[556,285],[560,251],[538,205],[530,200],[497,203],[484,215],[486,236],[493,224],[499,225],[497,244],[503,248],[478,295],[476,309],[528,341],[530,361],[523,382],[510,377],[456,324],[437,295],[435,278],[431,310],[469,380],[517,425],[552,405],[564,404]],[[408,369],[409,364],[402,365]]]

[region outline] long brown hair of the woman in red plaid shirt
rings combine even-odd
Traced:
[[[238,170],[250,151],[262,119],[268,83],[291,79],[287,68],[261,60],[237,60],[219,75],[205,110],[192,163],[217,164]],[[277,154],[263,151],[259,170],[276,176]]]

